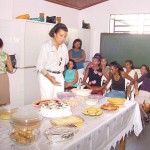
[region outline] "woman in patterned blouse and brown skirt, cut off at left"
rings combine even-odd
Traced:
[[[3,41],[0,38],[0,105],[10,103],[9,79],[7,72],[13,72],[9,55],[3,50]]]

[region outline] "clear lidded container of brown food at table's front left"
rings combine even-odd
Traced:
[[[42,117],[35,111],[18,111],[10,118],[10,138],[19,145],[28,145],[40,136]]]

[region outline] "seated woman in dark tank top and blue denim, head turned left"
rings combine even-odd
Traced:
[[[126,98],[126,92],[125,92],[125,78],[127,78],[130,81],[130,84],[128,85],[128,92],[127,95],[131,92],[131,86],[134,84],[134,79],[131,78],[127,73],[123,71],[123,68],[118,62],[114,61],[110,64],[110,73],[109,77],[107,79],[107,82],[102,86],[102,88],[105,88],[109,81],[112,79],[111,84],[111,91],[109,93],[106,93],[106,97],[119,97],[119,98]]]

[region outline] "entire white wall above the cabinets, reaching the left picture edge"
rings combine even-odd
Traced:
[[[78,27],[79,11],[44,0],[0,0],[0,19],[14,19],[22,14],[29,14],[31,18],[39,17],[39,13],[46,16],[62,18],[62,23],[69,27]]]

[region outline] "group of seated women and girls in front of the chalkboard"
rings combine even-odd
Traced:
[[[70,59],[64,73],[66,90],[78,87],[79,78],[75,66],[75,62]],[[91,90],[101,90],[106,97],[127,98],[131,96],[132,92],[141,107],[143,103],[146,103],[147,109],[150,110],[150,105],[148,105],[150,103],[149,68],[142,65],[140,72],[141,77],[138,78],[131,60],[125,61],[125,68],[117,61],[111,62],[108,67],[106,58],[101,57],[100,54],[95,54],[92,62],[85,69],[82,84]],[[111,90],[106,92],[110,83]],[[144,116],[148,117],[146,114]]]

